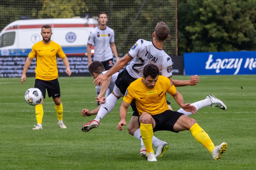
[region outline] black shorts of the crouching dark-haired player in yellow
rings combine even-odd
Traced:
[[[160,130],[168,130],[171,132],[178,133],[178,131],[173,130],[173,126],[182,115],[184,114],[172,110],[166,110],[158,115],[151,115],[154,121],[156,122],[156,126],[154,127],[153,132]]]

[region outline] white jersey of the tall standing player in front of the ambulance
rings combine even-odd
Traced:
[[[99,29],[97,26],[90,32],[88,44],[94,46],[94,61],[107,61],[113,58],[110,43],[115,42],[114,30],[106,26],[106,29]]]

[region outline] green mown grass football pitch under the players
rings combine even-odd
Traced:
[[[186,80],[190,76],[173,76]],[[83,133],[81,126],[95,116],[83,117],[84,108],[95,109],[96,96],[92,77],[59,77],[63,104],[63,122],[57,124],[51,98],[44,99],[43,130],[32,130],[36,124],[35,106],[25,102],[24,94],[34,87],[35,78],[0,79],[0,169],[256,169],[255,96],[256,76],[200,76],[196,86],[178,87],[185,103],[203,100],[214,94],[227,105],[227,111],[205,107],[195,118],[215,145],[227,142],[221,160],[198,143],[189,131],[160,131],[156,137],[168,142],[170,148],[157,162],[148,162],[139,155],[140,142],[129,135],[126,127],[117,130],[118,101],[98,128]],[[242,87],[242,88],[241,88]],[[179,106],[172,96],[174,110]],[[129,123],[131,109],[126,122]],[[156,148],[153,148],[156,150]]]

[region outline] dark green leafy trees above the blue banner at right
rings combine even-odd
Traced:
[[[255,0],[182,0],[179,53],[256,50]]]

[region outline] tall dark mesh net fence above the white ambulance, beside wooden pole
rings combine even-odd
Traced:
[[[108,14],[107,26],[115,31],[115,44],[119,56],[125,55],[140,38],[151,41],[152,33],[159,21],[165,22],[170,28],[170,38],[164,43],[163,49],[169,55],[177,55],[176,1],[1,0],[0,30],[3,30],[9,23],[20,19],[80,17],[97,20],[99,12],[104,11]],[[38,29],[38,34],[40,35],[40,29]],[[11,41],[9,40],[11,38],[14,39],[13,36],[6,37],[0,37],[0,43],[6,39],[7,41]],[[26,40],[23,43],[26,43]],[[84,40],[84,46],[86,47],[86,45],[87,39]]]

